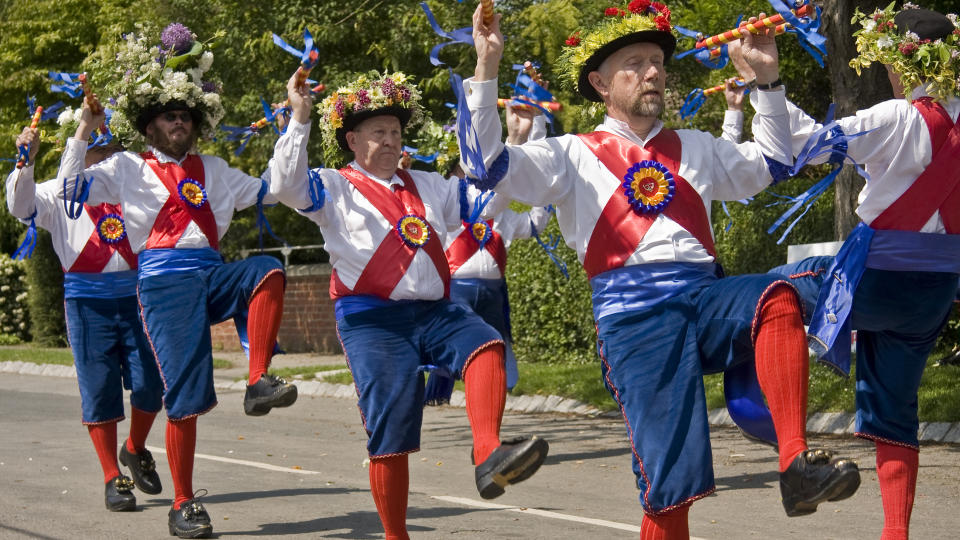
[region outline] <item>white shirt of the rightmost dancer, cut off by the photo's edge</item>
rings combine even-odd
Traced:
[[[912,92],[911,100],[926,95],[922,88],[917,88]],[[956,122],[960,116],[960,99],[953,97],[940,104]],[[793,150],[796,154],[810,135],[820,129],[821,124],[792,103],[788,103],[788,108],[790,130],[793,132]],[[870,223],[899,199],[933,160],[933,146],[927,123],[910,101],[891,99],[857,111],[853,116],[841,118],[837,120],[837,124],[847,135],[872,130],[849,141],[847,147],[850,157],[870,175],[870,180],[860,191],[860,206],[856,210],[860,219]],[[757,141],[770,136],[764,127],[757,126],[756,122],[753,135]],[[828,158],[829,154],[814,160],[813,163],[823,163]],[[940,212],[934,212],[920,232],[946,233]]]

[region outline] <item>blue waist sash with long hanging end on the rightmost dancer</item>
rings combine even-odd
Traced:
[[[867,268],[895,272],[960,273],[960,235],[874,230],[860,223],[834,258],[810,320],[809,345],[850,373],[850,312]]]

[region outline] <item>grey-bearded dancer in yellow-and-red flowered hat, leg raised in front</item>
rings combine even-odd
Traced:
[[[478,187],[554,204],[590,277],[604,382],[626,421],[641,490],[641,535],[689,534],[690,505],[715,489],[702,375],[754,362],[776,426],[787,515],[849,497],[857,466],[807,448],[809,366],[796,291],[770,275],[717,277],[711,199],[754,195],[773,180],[768,162],[792,163],[773,36],[747,36],[744,54],[760,83],[757,121],[779,134],[777,144],[735,145],[658,120],[676,45],[666,6],[634,0],[610,10],[617,13],[568,40],[561,56],[568,82],[606,106],[596,131],[503,146],[503,36],[499,18],[484,24],[479,11],[477,67],[464,92],[493,171]]]

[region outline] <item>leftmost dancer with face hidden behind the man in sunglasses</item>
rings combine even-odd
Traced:
[[[84,205],[78,219],[69,219],[57,196],[59,184],[34,183],[38,143],[36,129],[25,128],[17,137],[18,147],[30,147],[30,162],[7,177],[7,208],[30,227],[51,233],[65,272],[64,310],[80,386],[81,421],[103,469],[104,504],[111,512],[133,511],[134,485],[150,495],[162,489],[145,446],[160,411],[162,386],[138,314],[137,256],[130,249],[119,206]],[[94,147],[86,155],[86,165],[120,150],[115,144]],[[132,481],[120,474],[117,463],[124,389],[131,391],[130,435],[120,449],[120,463],[130,468]]]

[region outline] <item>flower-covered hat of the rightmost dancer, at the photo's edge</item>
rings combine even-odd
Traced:
[[[856,10],[853,22],[859,56],[850,61],[857,74],[873,62],[889,65],[904,88],[927,86],[938,99],[960,95],[960,26],[957,15],[941,15],[906,3],[893,3],[870,15]]]

